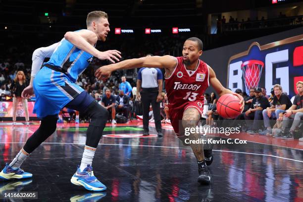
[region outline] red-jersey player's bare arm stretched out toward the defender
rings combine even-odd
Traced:
[[[133,69],[139,67],[165,68],[166,74],[170,75],[176,65],[176,58],[170,55],[141,57],[135,59],[127,59],[116,64],[102,66],[96,71],[95,75],[98,79],[105,80],[110,77],[112,71],[116,71],[119,69]]]

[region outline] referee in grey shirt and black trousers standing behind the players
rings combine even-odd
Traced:
[[[148,54],[152,56],[152,54]],[[137,79],[137,95],[136,97],[140,100],[139,92],[142,87],[141,101],[143,109],[143,135],[148,136],[149,133],[149,111],[150,104],[152,104],[152,112],[155,123],[155,128],[158,136],[163,136],[161,128],[161,115],[160,115],[160,101],[162,98],[163,88],[163,75],[159,68],[147,68],[142,67],[138,72]]]

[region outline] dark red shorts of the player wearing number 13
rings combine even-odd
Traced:
[[[169,107],[169,117],[170,117],[169,119],[172,127],[174,128],[176,135],[178,135],[179,133],[179,125],[180,125],[179,121],[182,120],[184,111],[189,107],[195,108],[200,112],[200,115],[202,116],[203,106],[204,106],[204,100],[198,100],[198,101],[186,102],[181,106],[178,106],[177,108]]]

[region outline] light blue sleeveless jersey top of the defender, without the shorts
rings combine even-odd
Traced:
[[[50,60],[44,63],[44,65],[51,65],[61,69],[75,83],[78,76],[82,74],[92,60],[93,55],[76,48],[72,43],[63,38],[50,56]]]

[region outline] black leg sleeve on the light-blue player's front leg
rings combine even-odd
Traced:
[[[91,123],[86,133],[86,145],[97,148],[107,121],[108,110],[98,104],[96,101],[93,101],[88,106],[86,114],[91,117]]]

